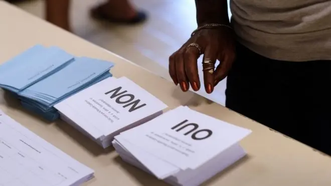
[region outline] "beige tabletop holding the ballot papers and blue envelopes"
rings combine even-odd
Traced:
[[[56,45],[77,56],[114,62],[115,67],[111,72],[115,77],[130,78],[169,105],[169,108],[188,105],[194,110],[251,129],[252,134],[241,142],[248,156],[205,185],[331,185],[329,156],[271,131],[223,106],[210,103],[195,93],[183,93],[172,82],[2,1],[0,1],[0,23],[1,63],[36,44]],[[101,149],[96,143],[62,121],[46,123],[21,109],[17,100],[3,91],[1,94],[3,96],[0,98],[0,107],[5,113],[95,170],[96,177],[86,185],[167,185],[121,161],[112,148]]]

